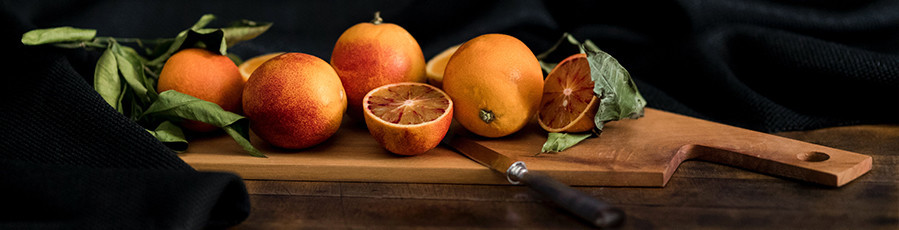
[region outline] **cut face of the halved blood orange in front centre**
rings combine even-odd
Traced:
[[[443,93],[425,86],[397,85],[372,93],[366,105],[381,120],[413,125],[433,121],[449,108]]]

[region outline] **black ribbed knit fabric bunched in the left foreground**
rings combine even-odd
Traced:
[[[2,43],[12,59],[0,84],[0,229],[215,229],[249,215],[239,177],[194,171],[99,97],[86,61],[95,54],[26,48],[11,15],[5,31],[15,32]]]

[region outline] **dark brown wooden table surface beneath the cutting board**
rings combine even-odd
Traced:
[[[701,161],[664,188],[577,187],[623,209],[622,229],[899,229],[899,125],[777,135],[873,157],[840,188]],[[246,180],[252,211],[235,229],[590,228],[527,187]]]

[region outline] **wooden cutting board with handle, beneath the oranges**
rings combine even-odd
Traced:
[[[697,159],[842,186],[872,164],[867,155],[649,108],[643,118],[608,123],[600,137],[555,154],[537,155],[546,132],[536,124],[503,138],[475,139],[570,185],[662,187],[681,162]],[[251,142],[268,158],[247,155],[224,135],[191,140],[180,156],[197,170],[230,171],[244,179],[508,183],[446,146],[418,156],[391,154],[364,127],[346,121],[328,141],[309,149],[278,149],[255,136]]]

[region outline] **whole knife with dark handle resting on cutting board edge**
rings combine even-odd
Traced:
[[[468,158],[505,175],[509,183],[529,186],[594,226],[615,227],[624,222],[625,215],[621,209],[569,187],[546,174],[528,170],[524,162],[493,151],[468,137],[451,131],[446,134],[443,143]]]

